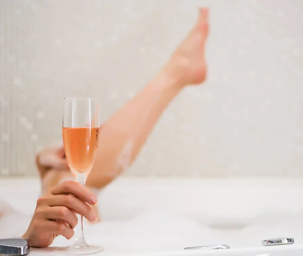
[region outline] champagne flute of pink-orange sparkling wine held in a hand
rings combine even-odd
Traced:
[[[96,98],[64,98],[63,143],[68,165],[77,182],[85,185],[92,168],[99,136],[99,101]],[[104,250],[89,245],[83,235],[83,216],[78,215],[75,243],[60,247],[64,254],[84,255]]]

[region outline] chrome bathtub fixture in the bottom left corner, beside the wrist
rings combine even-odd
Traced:
[[[28,252],[29,241],[27,239],[0,239],[0,255],[25,255]]]

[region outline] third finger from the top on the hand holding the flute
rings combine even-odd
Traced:
[[[44,211],[43,217],[47,220],[55,219],[61,220],[60,222],[66,222],[72,229],[74,229],[78,223],[77,216],[75,216],[71,210],[63,206],[48,207]]]

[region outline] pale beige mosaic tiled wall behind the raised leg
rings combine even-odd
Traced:
[[[174,101],[129,175],[303,175],[303,1],[0,0],[0,174],[61,140],[62,98],[108,118],[211,9],[209,77]]]

